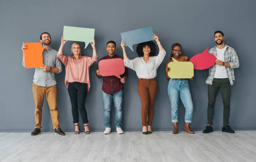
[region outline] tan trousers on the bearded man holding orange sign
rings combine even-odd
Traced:
[[[59,112],[57,108],[57,88],[56,85],[51,87],[41,87],[33,83],[33,97],[35,101],[35,128],[41,128],[42,108],[44,104],[44,94],[48,102],[53,129],[59,128]]]

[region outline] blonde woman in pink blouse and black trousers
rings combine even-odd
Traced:
[[[71,52],[74,56],[62,55],[63,47],[66,42],[67,40],[63,40],[62,36],[57,58],[61,60],[66,67],[65,85],[68,87],[72,106],[73,123],[75,125],[74,134],[79,134],[78,109],[84,123],[84,133],[90,134],[85,99],[90,89],[89,68],[98,60],[95,41],[91,43],[93,49],[92,57],[81,56],[81,47],[77,42],[74,42],[71,46]]]

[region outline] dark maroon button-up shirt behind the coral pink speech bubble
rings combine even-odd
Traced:
[[[113,55],[112,57],[110,57],[109,55],[106,55],[104,57],[102,57],[100,60],[105,60],[105,59],[112,59],[112,58],[121,58],[122,57],[118,56],[118,55]],[[100,62],[100,61],[99,61]],[[99,66],[97,68],[97,70],[99,70]],[[96,76],[98,77],[97,73]],[[123,75],[120,75],[120,77],[128,77],[128,68],[125,67],[125,72],[123,73]],[[100,77],[98,77],[100,78]],[[120,79],[116,76],[106,76],[103,77],[103,82],[102,82],[102,90],[103,92],[107,93],[107,94],[114,94],[120,90],[123,89],[123,83],[121,83]]]

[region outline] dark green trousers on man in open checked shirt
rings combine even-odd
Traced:
[[[223,102],[223,126],[228,125],[230,113],[230,94],[231,85],[228,78],[218,79],[214,78],[212,85],[208,85],[208,108],[207,108],[207,124],[212,125],[212,118],[214,113],[214,105],[218,91],[220,90]]]

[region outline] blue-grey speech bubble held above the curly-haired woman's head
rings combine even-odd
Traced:
[[[121,37],[123,42],[126,42],[126,46],[133,51],[133,45],[153,40],[153,30],[152,27],[144,27],[128,32],[121,32]]]

